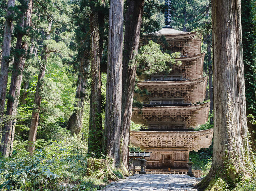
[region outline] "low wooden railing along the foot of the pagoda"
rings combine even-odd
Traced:
[[[132,171],[131,171],[132,172]],[[135,169],[134,174],[139,174],[140,169]],[[187,174],[188,169],[146,169],[146,174]],[[196,178],[202,176],[201,170],[192,170],[192,173]]]

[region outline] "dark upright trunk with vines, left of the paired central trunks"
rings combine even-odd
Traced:
[[[100,71],[100,33],[98,12],[90,15],[91,31],[91,95],[88,154],[99,157],[102,149],[102,119],[101,119],[101,71]]]

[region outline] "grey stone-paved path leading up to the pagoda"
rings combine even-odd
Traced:
[[[174,174],[137,174],[112,182],[104,190],[112,191],[192,191],[197,178]]]

